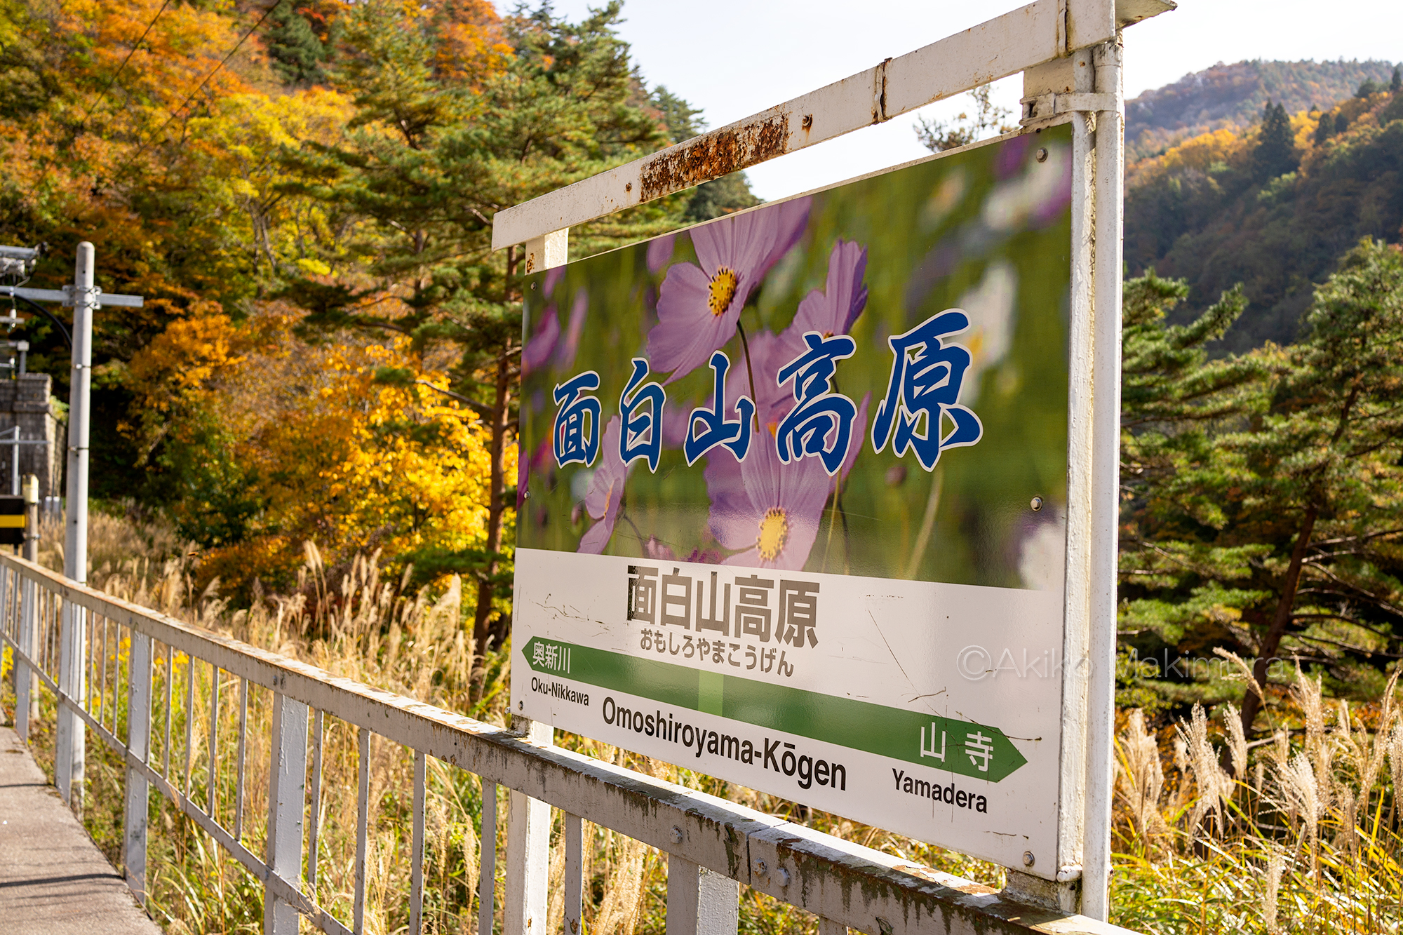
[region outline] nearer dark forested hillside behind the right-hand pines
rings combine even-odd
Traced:
[[[1194,136],[1127,173],[1127,267],[1188,281],[1176,321],[1244,286],[1247,309],[1215,352],[1294,341],[1340,257],[1361,237],[1403,233],[1403,80],[1395,69],[1341,97],[1295,112],[1299,97],[1274,101],[1251,125]]]

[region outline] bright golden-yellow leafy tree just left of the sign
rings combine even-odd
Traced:
[[[448,375],[404,337],[303,343],[299,317],[265,307],[243,324],[177,321],[129,368],[147,432],[201,459],[178,472],[196,479],[178,511],[203,535],[202,577],[286,587],[304,542],[333,566],[375,549],[405,562],[481,548],[487,431],[442,393],[376,380],[411,369],[442,389]],[[515,472],[515,452],[508,462]]]

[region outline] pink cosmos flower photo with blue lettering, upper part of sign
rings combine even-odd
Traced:
[[[1051,587],[1020,511],[1041,498],[1034,538],[1062,533],[1070,136],[1040,146],[1044,161],[995,142],[535,274],[519,548]],[[650,470],[620,458],[630,359],[665,393]],[[551,400],[585,372],[599,455],[564,463]]]

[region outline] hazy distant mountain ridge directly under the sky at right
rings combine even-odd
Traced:
[[[1135,159],[1209,131],[1240,129],[1261,118],[1267,101],[1288,114],[1329,110],[1365,81],[1388,84],[1392,73],[1392,62],[1219,62],[1125,101],[1125,146]]]

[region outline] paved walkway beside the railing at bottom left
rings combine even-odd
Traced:
[[[160,935],[8,727],[0,727],[0,932]]]

